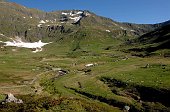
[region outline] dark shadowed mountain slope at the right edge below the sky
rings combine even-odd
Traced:
[[[132,45],[135,47],[130,48],[130,50],[145,52],[145,55],[156,53],[166,57],[170,56],[170,21],[159,25],[160,27],[156,30],[132,40]]]

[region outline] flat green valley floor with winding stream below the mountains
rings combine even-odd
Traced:
[[[46,52],[2,52],[0,100],[12,93],[24,103],[0,111],[170,111],[169,58]]]

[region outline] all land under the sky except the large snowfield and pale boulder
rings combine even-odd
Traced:
[[[0,112],[169,112],[169,22],[0,1]],[[51,42],[41,52],[3,42]],[[18,40],[17,40],[18,41]]]

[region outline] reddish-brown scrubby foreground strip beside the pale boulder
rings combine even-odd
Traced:
[[[74,97],[60,97],[58,99],[45,96],[17,96],[23,99],[23,104],[8,103],[0,105],[1,112],[14,111],[64,111],[64,112],[120,112],[118,108],[109,107],[104,103],[97,101],[88,101],[85,99],[78,99]]]

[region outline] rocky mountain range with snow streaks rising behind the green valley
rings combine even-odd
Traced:
[[[164,41],[159,36],[168,31],[170,24],[170,20],[158,24],[121,23],[88,10],[43,12],[5,0],[0,1],[0,10],[0,41],[11,38],[29,42],[55,41],[67,44],[72,51],[87,51],[90,43],[96,45],[93,48],[110,49],[124,41],[129,43],[132,38],[135,38],[136,45],[149,42],[150,45],[154,39]]]

